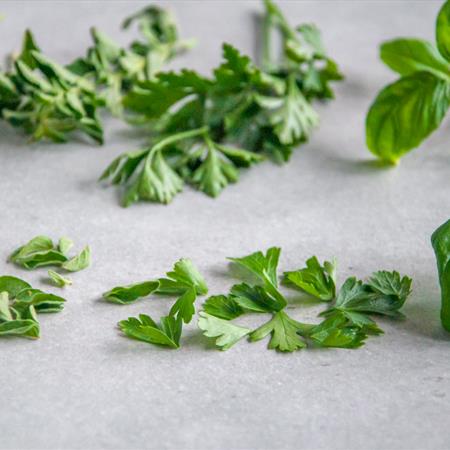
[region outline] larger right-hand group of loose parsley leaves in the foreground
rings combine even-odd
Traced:
[[[399,309],[411,292],[411,279],[398,272],[375,272],[367,282],[348,278],[336,294],[336,263],[323,265],[316,257],[306,267],[286,272],[286,286],[298,289],[329,307],[318,324],[302,323],[288,313],[288,301],[278,286],[279,248],[266,254],[256,252],[231,258],[256,275],[256,284],[234,285],[228,295],[212,296],[203,304],[198,326],[205,336],[217,338],[216,345],[227,350],[248,336],[258,341],[270,336],[269,348],[292,352],[307,346],[358,348],[370,335],[382,330],[373,315],[402,317]],[[232,322],[248,313],[269,313],[270,319],[255,330]]]

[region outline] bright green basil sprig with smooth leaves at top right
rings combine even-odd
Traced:
[[[396,39],[380,48],[381,59],[401,75],[376,97],[366,119],[369,150],[397,163],[441,124],[450,105],[450,0],[436,23],[437,48],[420,39]]]

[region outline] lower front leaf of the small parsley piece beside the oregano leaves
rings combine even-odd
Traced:
[[[144,341],[149,344],[162,345],[170,348],[179,348],[182,330],[182,321],[172,316],[161,317],[160,325],[145,314],[139,319],[130,317],[119,322],[119,328],[130,338]]]

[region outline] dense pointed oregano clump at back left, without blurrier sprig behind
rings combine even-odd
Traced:
[[[44,56],[29,30],[11,69],[0,73],[0,113],[34,141],[65,142],[77,130],[102,143],[99,105],[94,85]]]

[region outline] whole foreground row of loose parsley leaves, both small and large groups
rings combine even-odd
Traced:
[[[369,336],[383,333],[373,316],[402,317],[399,310],[411,293],[409,277],[395,271],[378,271],[367,281],[350,277],[338,289],[336,262],[320,264],[313,256],[306,261],[306,267],[285,272],[282,277],[286,287],[327,304],[320,314],[321,322],[299,322],[291,317],[294,305],[280,290],[277,272],[280,253],[280,248],[272,247],[266,253],[258,251],[242,258],[229,258],[251,272],[254,282],[235,284],[228,294],[210,296],[203,303],[198,327],[206,337],[215,339],[217,348],[228,350],[244,337],[253,342],[267,336],[269,348],[282,352],[307,346],[358,348]],[[119,322],[119,327],[133,339],[179,348],[183,323],[191,322],[197,296],[207,292],[199,271],[190,260],[182,259],[166,278],[118,286],[103,297],[124,305],[150,294],[176,296],[169,314],[161,317],[159,324],[141,314]],[[254,330],[234,322],[247,314],[269,314],[270,318]]]

